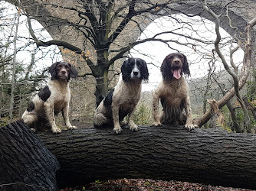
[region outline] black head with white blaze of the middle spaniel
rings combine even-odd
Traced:
[[[128,82],[130,79],[149,79],[149,70],[146,62],[140,58],[125,60],[121,67],[121,72],[125,82]]]

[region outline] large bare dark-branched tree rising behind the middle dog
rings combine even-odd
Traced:
[[[15,4],[15,1],[8,1]],[[173,1],[179,3],[180,1]],[[182,5],[182,2],[180,3]],[[38,47],[57,45],[80,55],[84,63],[90,67],[90,73],[83,76],[92,75],[96,79],[96,100],[97,105],[107,95],[109,90],[109,70],[110,66],[123,57],[137,44],[146,41],[170,41],[162,40],[159,35],[137,40],[124,42],[125,31],[143,32],[142,24],[150,23],[155,18],[171,15],[173,9],[171,1],[65,1],[61,5],[54,1],[29,1],[22,2],[22,9],[28,16],[28,26],[31,37]],[[59,13],[59,14],[58,14]],[[51,30],[62,30],[62,34],[53,40],[41,40],[34,34],[30,18],[34,18],[44,25],[44,28]],[[53,29],[54,28],[54,29]],[[66,34],[63,34],[65,32]],[[64,40],[64,35],[68,33],[77,34],[76,40]],[[175,31],[169,31],[175,33]],[[167,33],[166,33],[167,34]],[[61,39],[62,38],[62,39]],[[83,43],[77,44],[82,40]],[[180,43],[179,43],[180,44]],[[185,44],[189,45],[189,44]],[[92,50],[92,51],[88,51]]]

